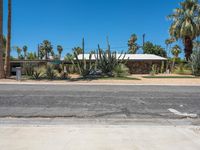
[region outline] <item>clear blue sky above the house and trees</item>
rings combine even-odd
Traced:
[[[6,34],[7,0],[4,0],[4,33]],[[12,45],[27,45],[36,51],[37,44],[50,40],[64,47],[64,54],[81,46],[86,50],[106,47],[106,36],[112,49],[127,48],[132,33],[165,47],[170,22],[166,16],[181,0],[13,0]],[[12,52],[16,55],[16,52]]]

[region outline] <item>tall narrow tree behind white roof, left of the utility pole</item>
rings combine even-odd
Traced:
[[[128,52],[130,54],[136,54],[137,50],[139,49],[139,45],[136,43],[136,41],[137,41],[137,35],[132,34],[131,38],[128,41],[128,46],[129,46]]]

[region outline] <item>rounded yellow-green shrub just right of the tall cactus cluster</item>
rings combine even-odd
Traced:
[[[113,72],[115,77],[126,77],[129,75],[129,68],[124,64],[118,64]]]

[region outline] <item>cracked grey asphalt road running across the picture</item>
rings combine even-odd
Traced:
[[[0,85],[0,117],[182,119],[200,117],[200,87]]]

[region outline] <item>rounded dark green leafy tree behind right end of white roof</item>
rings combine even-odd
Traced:
[[[146,42],[143,47],[144,54],[154,54],[161,57],[167,57],[167,53],[160,45],[154,45],[151,42]]]

